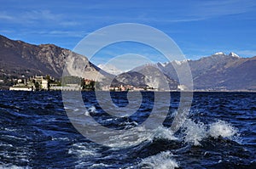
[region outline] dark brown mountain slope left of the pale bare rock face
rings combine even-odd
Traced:
[[[51,75],[60,78],[70,53],[55,45],[32,45],[0,36],[1,70],[10,76]]]

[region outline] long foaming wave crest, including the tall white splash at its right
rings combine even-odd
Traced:
[[[96,107],[90,106],[85,115],[90,115],[90,113],[95,113]],[[173,114],[176,114],[174,111]],[[114,118],[108,118],[102,120],[103,123],[113,123]],[[147,129],[143,125],[139,125],[136,121],[119,121],[119,127],[124,127],[125,132],[121,132],[119,135],[113,134],[106,140],[106,144],[109,147],[119,147],[127,148],[131,146],[136,146],[143,142],[152,142],[154,140],[166,139],[166,140],[183,140],[184,143],[193,144],[195,146],[200,146],[201,141],[205,138],[229,138],[235,140],[239,136],[238,130],[236,127],[233,127],[230,123],[226,121],[216,121],[211,124],[205,124],[201,121],[195,121],[190,118],[187,118],[183,122],[181,129],[182,138],[177,138],[171,128],[160,126],[152,129]],[[115,132],[113,130],[113,132]],[[132,139],[130,139],[132,138]],[[107,143],[108,142],[108,143]]]

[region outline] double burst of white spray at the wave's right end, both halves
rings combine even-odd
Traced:
[[[212,138],[230,138],[238,136],[238,130],[226,121],[217,121],[212,124],[204,124],[203,122],[195,122],[187,119],[183,123],[184,142],[191,143],[195,146],[201,145],[200,142],[207,137]]]

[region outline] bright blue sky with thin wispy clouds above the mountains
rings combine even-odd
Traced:
[[[232,51],[242,57],[256,55],[254,0],[0,0],[0,3],[0,34],[33,44],[54,43],[73,49],[97,29],[128,22],[165,32],[187,59],[199,59],[218,51],[227,54]],[[114,48],[111,50],[112,53],[102,52],[101,57],[113,54]],[[125,52],[127,48],[119,54]],[[95,61],[96,65],[101,63],[100,59]]]

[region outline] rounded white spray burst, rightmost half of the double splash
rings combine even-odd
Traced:
[[[223,138],[232,138],[237,134],[238,130],[226,121],[217,121],[210,125],[209,134],[213,138],[219,136]]]

